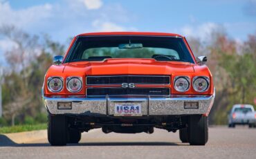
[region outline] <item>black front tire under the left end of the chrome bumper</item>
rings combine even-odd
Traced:
[[[67,121],[64,115],[48,115],[47,131],[52,146],[66,145]]]

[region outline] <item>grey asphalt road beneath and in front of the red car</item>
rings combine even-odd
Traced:
[[[180,142],[178,132],[104,134],[98,129],[66,147],[51,147],[47,140],[0,144],[0,158],[256,158],[256,129],[212,127],[209,135],[205,146],[190,146]]]

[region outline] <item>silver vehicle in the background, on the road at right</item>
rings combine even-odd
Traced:
[[[235,127],[236,124],[248,124],[248,126],[256,126],[256,114],[250,104],[235,104],[228,115],[228,127]]]

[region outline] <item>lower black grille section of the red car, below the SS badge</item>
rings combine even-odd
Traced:
[[[87,95],[170,95],[170,88],[87,88]]]

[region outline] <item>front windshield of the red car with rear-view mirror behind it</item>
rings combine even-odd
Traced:
[[[194,63],[181,37],[125,35],[77,37],[65,63],[109,58],[153,58]]]

